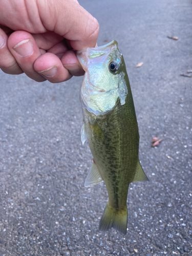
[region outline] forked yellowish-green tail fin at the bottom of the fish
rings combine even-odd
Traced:
[[[126,206],[121,210],[116,210],[108,202],[100,220],[99,229],[101,231],[107,231],[113,227],[119,232],[126,234],[127,218],[128,212]]]

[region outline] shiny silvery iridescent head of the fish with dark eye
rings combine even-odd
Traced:
[[[95,115],[103,115],[113,110],[119,100],[124,104],[126,69],[117,41],[76,54],[86,72],[80,94],[83,108]]]

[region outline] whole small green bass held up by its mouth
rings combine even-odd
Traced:
[[[80,88],[82,144],[88,140],[93,165],[85,187],[104,181],[109,201],[99,229],[126,234],[129,184],[147,181],[139,161],[139,131],[129,78],[117,41],[76,52],[85,71]]]

